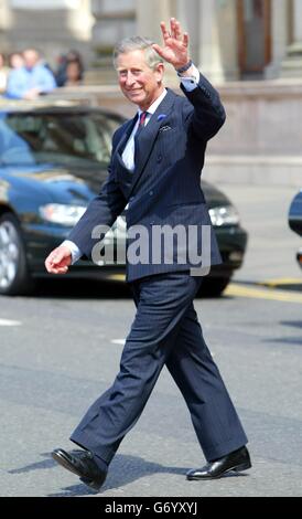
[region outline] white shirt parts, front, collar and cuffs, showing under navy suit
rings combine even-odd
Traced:
[[[199,83],[199,71],[196,68],[195,65],[193,66],[193,75],[192,76],[182,76],[182,74],[177,74],[182,85],[187,92],[192,92],[195,88],[197,88],[197,85]],[[152,103],[152,105],[148,108],[147,112],[147,117],[144,120],[144,126],[148,125],[149,120],[151,119],[152,115],[154,112],[158,109],[159,105],[163,100],[163,98],[166,96],[166,88],[164,88],[163,93],[160,95],[160,97]],[[128,139],[128,142],[125,147],[125,150],[122,152],[122,160],[125,162],[125,166],[130,170],[133,171],[134,169],[134,135],[137,133],[137,129],[139,127],[139,120],[140,120],[140,114],[142,113],[141,109],[138,110],[138,120],[134,125],[134,128]],[[71,242],[71,240],[65,240],[61,245],[64,245],[65,247],[69,248],[72,253],[72,264],[76,263],[80,256],[83,256],[83,253],[78,248],[78,246],[74,243]]]

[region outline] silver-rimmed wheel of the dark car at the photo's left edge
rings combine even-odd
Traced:
[[[33,289],[20,224],[12,213],[0,216],[0,295],[28,294]]]

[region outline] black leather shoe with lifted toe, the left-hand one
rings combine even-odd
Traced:
[[[79,479],[94,490],[99,490],[106,479],[107,470],[101,470],[97,466],[94,455],[89,451],[71,451],[67,453],[63,448],[56,448],[53,451],[52,457],[62,467],[79,476]]]

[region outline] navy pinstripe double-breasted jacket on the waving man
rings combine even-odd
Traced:
[[[198,252],[203,246],[201,226],[209,225],[211,264],[222,261],[201,189],[201,172],[207,140],[223,126],[225,110],[218,93],[202,74],[197,88],[192,92],[181,88],[185,96],[168,89],[166,96],[140,134],[133,172],[126,169],[121,153],[137,116],[118,128],[112,139],[107,181],[68,236],[89,257],[96,244],[91,237],[93,229],[99,224],[111,226],[129,203],[128,229],[143,225],[149,231],[150,258],[145,264],[127,262],[129,282],[152,274],[202,266],[202,261],[192,264],[187,255],[185,261],[177,263],[176,240],[173,241],[169,262],[162,255],[160,261],[157,258],[157,263],[152,263],[154,251],[151,231],[154,225],[182,225],[185,229],[198,226]],[[131,240],[128,246],[130,244]]]

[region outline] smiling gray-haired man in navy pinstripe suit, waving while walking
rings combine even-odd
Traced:
[[[199,177],[206,144],[224,124],[225,112],[217,92],[190,60],[188,36],[179,21],[171,19],[170,30],[162,22],[161,29],[162,47],[139,36],[117,45],[119,85],[138,106],[138,114],[114,136],[109,176],[100,193],[68,240],[45,261],[50,273],[63,274],[83,254],[89,257],[95,245],[93,230],[100,224],[112,225],[127,204],[128,229],[139,225],[147,230],[149,261],[128,256],[127,279],[137,313],[120,371],[71,436],[82,449],[53,452],[56,462],[96,490],[104,484],[109,463],[139,419],[164,364],[185,399],[207,460],[203,468],[190,470],[187,479],[214,479],[251,466],[246,434],[205,345],[193,306],[201,277],[192,275],[192,267],[220,263]],[[175,68],[184,96],[164,87],[163,61]],[[159,258],[150,239],[155,225],[181,225],[186,231],[196,227],[197,247],[207,248],[208,261],[203,262],[203,254],[197,264],[190,254],[177,261],[179,243],[174,237],[168,261],[161,254]],[[203,226],[209,230],[207,240]]]

